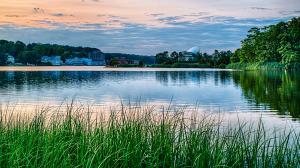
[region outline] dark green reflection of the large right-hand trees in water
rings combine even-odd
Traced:
[[[296,72],[235,72],[233,80],[246,98],[266,103],[282,115],[300,117],[300,75]]]

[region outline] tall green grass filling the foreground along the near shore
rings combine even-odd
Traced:
[[[1,167],[299,167],[300,135],[222,126],[183,112],[121,108],[97,119],[69,107],[33,119],[1,113]],[[48,117],[47,117],[48,116]]]

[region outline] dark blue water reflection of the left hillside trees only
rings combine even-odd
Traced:
[[[96,72],[96,71],[47,71],[47,72],[0,72],[0,91],[14,87],[22,90],[25,86],[40,87],[42,85],[64,86],[67,84],[91,85],[104,80],[124,81],[137,80],[151,75],[149,72]]]

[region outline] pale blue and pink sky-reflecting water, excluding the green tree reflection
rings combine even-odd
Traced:
[[[248,100],[233,82],[232,71],[53,71],[0,72],[0,104],[31,114],[36,107],[76,103],[92,105],[95,111],[120,108],[121,101],[192,110],[200,114],[222,115],[233,125],[257,122],[267,128],[297,127],[289,116],[278,116],[266,104]],[[172,102],[171,102],[172,100]],[[15,106],[16,105],[16,106]],[[2,106],[4,107],[4,106]],[[104,109],[104,110],[103,110]]]

